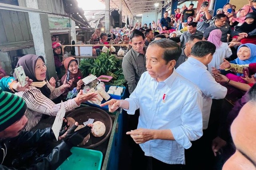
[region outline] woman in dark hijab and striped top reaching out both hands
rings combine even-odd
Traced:
[[[70,80],[68,83],[64,82],[58,88],[52,88],[46,80],[47,68],[44,64],[44,57],[42,56],[33,54],[25,55],[18,61],[16,67],[18,66],[23,66],[26,76],[29,76],[33,80],[30,89],[15,93],[26,101],[27,109],[25,115],[28,118],[28,123],[24,131],[30,131],[39,123],[43,114],[56,116],[60,109],[60,104],[54,104],[52,99],[57,98],[66,88],[69,88],[73,80]],[[17,78],[15,73],[14,77]],[[80,91],[76,98],[67,100],[62,104],[66,111],[70,111],[79,107],[82,102],[94,100],[96,95],[96,93],[83,94]]]

